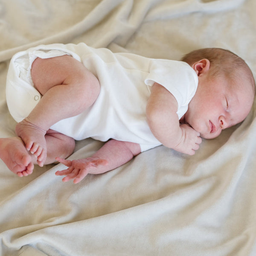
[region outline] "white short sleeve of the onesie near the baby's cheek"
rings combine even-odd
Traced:
[[[192,67],[183,61],[151,60],[145,84],[150,87],[157,82],[175,97],[179,119],[186,113],[188,104],[198,86],[198,76]]]

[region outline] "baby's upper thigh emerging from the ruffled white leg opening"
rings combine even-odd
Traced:
[[[53,58],[36,58],[31,67],[34,87],[44,95],[50,88],[67,84],[72,79],[93,76],[84,65],[70,55]]]

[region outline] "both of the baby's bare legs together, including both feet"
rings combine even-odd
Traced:
[[[1,159],[15,174],[24,172],[20,176],[31,174],[35,163],[43,166],[54,163],[57,156],[66,158],[73,153],[73,138],[49,128],[90,107],[99,94],[98,79],[68,55],[37,58],[32,64],[31,76],[42,98],[29,116],[17,124],[15,132],[19,140],[3,139],[0,144]]]

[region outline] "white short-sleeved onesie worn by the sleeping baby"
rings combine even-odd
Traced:
[[[28,116],[41,99],[31,79],[31,65],[35,58],[65,54],[81,61],[100,82],[99,96],[88,110],[51,127],[75,140],[92,137],[107,141],[113,138],[138,143],[141,151],[161,145],[151,133],[145,116],[150,87],[157,82],[175,96],[180,119],[198,86],[195,71],[182,61],[113,53],[84,43],[41,45],[16,53],[10,62],[6,99],[17,122]]]

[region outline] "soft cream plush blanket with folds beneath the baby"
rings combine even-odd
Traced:
[[[178,60],[229,49],[256,72],[255,0],[0,0],[0,137],[14,136],[9,60],[38,44],[85,42]],[[82,182],[61,164],[17,177],[0,161],[1,256],[255,256],[256,106],[194,156],[159,146]],[[70,159],[102,142],[76,143]]]

